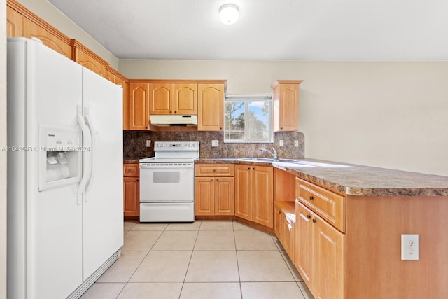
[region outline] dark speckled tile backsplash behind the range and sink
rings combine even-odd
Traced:
[[[146,147],[151,140],[151,147]],[[211,141],[218,140],[219,146],[212,147]],[[283,140],[284,146],[279,146]],[[294,146],[294,141],[299,146]],[[279,158],[304,158],[304,134],[302,132],[274,132],[274,144],[229,144],[223,141],[223,132],[146,132],[123,131],[123,158],[141,159],[153,157],[154,141],[200,141],[200,158],[270,158],[269,151],[274,147]]]

